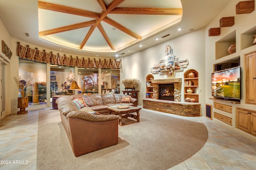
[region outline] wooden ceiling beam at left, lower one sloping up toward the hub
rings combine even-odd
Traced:
[[[39,36],[46,36],[46,35],[50,35],[50,34],[56,34],[56,33],[60,33],[60,32],[76,30],[79,28],[87,27],[87,26],[93,26],[95,24],[95,22],[96,22],[96,20],[91,20],[91,21],[81,22],[78,24],[72,24],[72,25],[68,25],[68,26],[62,26],[59,28],[53,28],[50,30],[40,31]]]

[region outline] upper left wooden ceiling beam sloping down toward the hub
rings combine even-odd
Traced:
[[[43,2],[43,1],[38,1],[38,8],[44,9],[44,10],[56,11],[56,12],[63,12],[66,14],[85,16],[90,18],[100,18],[100,14],[96,12],[90,12],[87,10],[81,10],[77,8],[72,8],[72,7],[58,5],[58,4],[52,4],[49,2]]]

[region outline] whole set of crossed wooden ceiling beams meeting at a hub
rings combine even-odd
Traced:
[[[97,27],[110,48],[114,51],[114,46],[110,42],[110,39],[108,38],[108,35],[106,34],[104,28],[100,24],[101,21],[104,21],[111,26],[114,26],[115,28],[121,30],[122,32],[125,32],[126,34],[141,40],[142,37],[138,34],[135,34],[128,28],[122,26],[118,22],[115,22],[114,20],[107,17],[108,14],[144,14],[144,15],[182,15],[182,8],[118,8],[119,4],[124,2],[124,0],[113,0],[110,4],[106,5],[104,0],[97,0],[97,2],[100,4],[100,7],[102,8],[101,13],[97,12],[90,12],[87,10],[82,10],[78,8],[72,8],[68,6],[58,5],[58,4],[52,4],[48,2],[38,1],[38,8],[44,9],[44,10],[52,10],[56,12],[63,12],[66,14],[74,14],[78,16],[84,16],[89,18],[94,18],[94,20],[90,20],[87,22],[81,22],[77,24],[72,24],[68,26],[62,26],[59,28],[54,28],[50,30],[40,31],[39,36],[46,36],[50,34],[56,34],[60,32],[75,30],[79,28],[84,28],[90,26],[90,30],[87,32],[84,40],[80,44],[80,49],[84,47],[90,36],[92,35],[92,32]]]

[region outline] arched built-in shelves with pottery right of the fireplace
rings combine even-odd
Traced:
[[[190,76],[191,73],[194,73],[194,76]],[[188,93],[188,90],[192,90],[191,93]],[[199,102],[199,89],[198,89],[198,72],[196,70],[187,70],[184,73],[184,99],[194,98],[195,102]]]

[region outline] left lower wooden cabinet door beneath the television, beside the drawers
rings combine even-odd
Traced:
[[[236,126],[250,133],[250,114],[246,110],[236,110]]]

